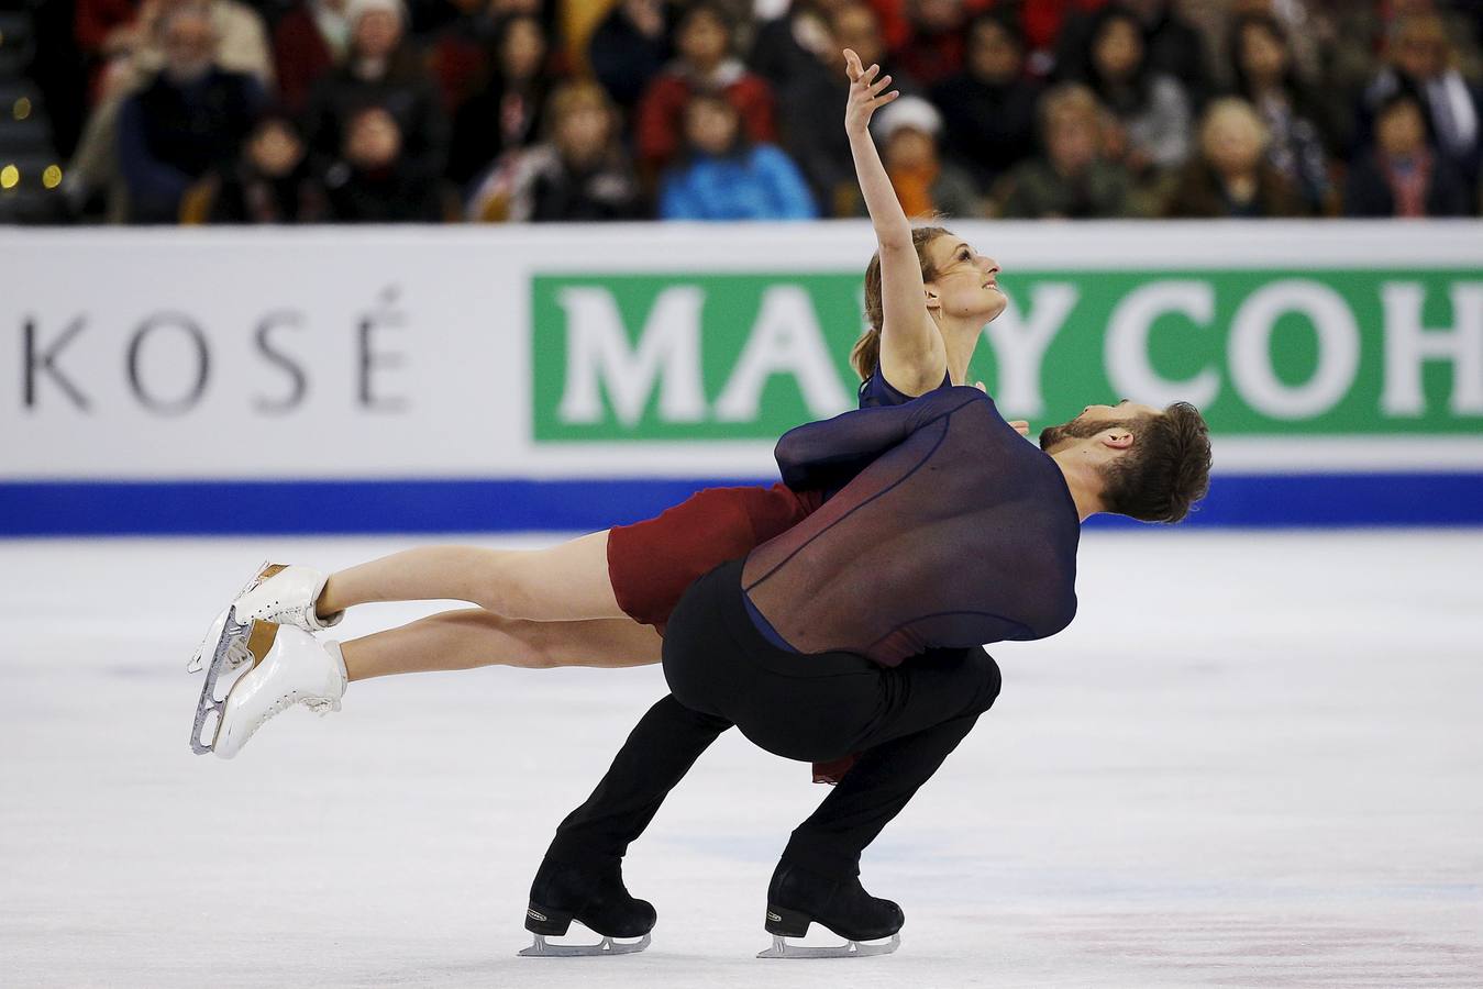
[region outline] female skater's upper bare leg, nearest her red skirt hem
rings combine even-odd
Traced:
[[[331,574],[320,615],[377,601],[467,601],[531,621],[632,620],[608,580],[608,532],[543,550],[421,546]]]

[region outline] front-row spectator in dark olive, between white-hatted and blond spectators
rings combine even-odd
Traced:
[[[1063,83],[1040,102],[1044,154],[1000,179],[1007,219],[1108,219],[1133,212],[1127,169],[1102,154],[1103,110],[1090,89]]]

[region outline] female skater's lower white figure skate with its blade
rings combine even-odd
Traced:
[[[217,697],[217,679],[227,670],[251,663],[225,698]],[[346,692],[346,663],[338,642],[319,644],[303,629],[268,621],[237,621],[236,608],[227,620],[206,670],[206,685],[196,706],[190,746],[197,755],[217,753],[230,759],[270,718],[294,704],[308,704],[316,713],[340,710]],[[217,722],[206,740],[211,713]]]

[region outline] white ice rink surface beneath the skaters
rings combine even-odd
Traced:
[[[1480,532],[1089,532],[1075,624],[992,649],[866,854],[900,952],[828,962],[753,959],[825,789],[736,732],[629,856],[653,947],[516,958],[658,669],[371,681],[190,753],[185,660],[258,560],[406,544],[0,543],[0,985],[1483,986]]]

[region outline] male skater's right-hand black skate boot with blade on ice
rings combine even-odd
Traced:
[[[814,921],[850,943],[839,947],[799,947],[783,940],[804,937]],[[758,958],[888,955],[900,946],[897,931],[905,922],[902,907],[871,896],[854,876],[830,879],[780,861],[767,887],[767,933],[773,936],[773,947]],[[860,943],[884,937],[891,940],[885,945]]]

